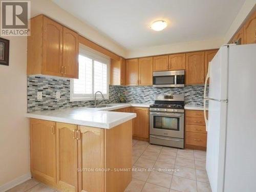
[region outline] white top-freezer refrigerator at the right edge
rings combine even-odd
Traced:
[[[256,44],[222,46],[209,63],[207,78],[211,190],[256,191]]]

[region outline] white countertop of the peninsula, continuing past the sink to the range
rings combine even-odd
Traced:
[[[129,106],[149,108],[151,103],[111,103],[110,108],[66,108],[52,111],[35,111],[27,113],[27,117],[42,120],[93,126],[103,129],[111,129],[121,123],[136,117],[135,113],[109,112]]]

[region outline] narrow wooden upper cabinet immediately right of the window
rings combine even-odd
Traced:
[[[111,59],[110,84],[112,86],[125,85],[125,59],[122,57],[120,60]]]

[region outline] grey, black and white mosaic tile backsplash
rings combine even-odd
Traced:
[[[42,100],[37,100],[37,92],[42,92]],[[60,99],[56,99],[56,92]],[[101,103],[119,102],[118,94],[125,96],[126,102],[154,102],[155,94],[184,94],[186,104],[203,105],[203,86],[185,86],[184,88],[153,88],[132,86],[110,86],[109,99]],[[70,101],[70,80],[44,76],[28,76],[27,78],[28,112],[55,110],[76,106],[93,105],[94,101]]]

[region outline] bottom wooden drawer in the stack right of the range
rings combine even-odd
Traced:
[[[206,147],[207,134],[186,132],[186,144]]]

